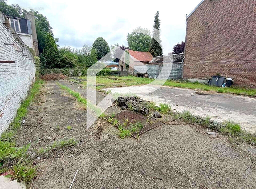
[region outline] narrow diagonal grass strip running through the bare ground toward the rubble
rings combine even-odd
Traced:
[[[79,92],[75,92],[73,90],[71,90],[69,87],[65,86],[65,85],[61,85],[60,83],[57,82],[57,85],[60,86],[60,88],[68,91],[68,93],[70,95],[72,95],[73,97],[75,97],[77,99],[78,102],[82,103],[85,107],[87,107],[87,105],[90,107],[90,109],[92,109],[95,114],[98,117],[105,117],[106,115],[104,113],[101,113],[101,109],[97,108],[95,105],[93,105],[92,103],[90,103],[89,101],[87,101],[87,99],[83,98],[80,96]]]

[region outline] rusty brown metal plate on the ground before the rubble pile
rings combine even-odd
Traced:
[[[136,123],[136,122],[142,123],[144,127],[139,131],[138,136],[151,130],[151,129],[154,129],[155,127],[157,127],[159,125],[164,124],[156,119],[153,119],[151,117],[148,117],[148,116],[145,116],[142,114],[134,113],[129,110],[115,114],[115,118],[119,121],[119,123],[121,125],[123,125],[124,123],[127,124],[127,126],[124,126],[124,129],[130,129],[131,128],[130,125],[132,123]],[[128,120],[128,122],[127,122],[127,120]],[[137,134],[133,132],[131,134],[131,136],[136,138]]]

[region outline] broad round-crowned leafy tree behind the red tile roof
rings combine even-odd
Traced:
[[[147,52],[150,47],[151,37],[147,28],[138,27],[131,34],[127,35],[129,49]]]

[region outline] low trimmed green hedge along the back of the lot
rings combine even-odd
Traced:
[[[90,69],[90,73],[96,73],[98,72],[98,69]],[[87,70],[86,69],[41,69],[40,70],[41,75],[45,74],[64,74],[67,76],[78,76],[81,74],[81,76],[86,76],[87,75]],[[111,70],[110,69],[103,69],[100,70],[99,73],[96,75],[111,75]]]

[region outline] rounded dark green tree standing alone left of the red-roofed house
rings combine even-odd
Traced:
[[[110,52],[108,43],[102,37],[98,37],[92,44],[92,47],[96,50],[97,59],[100,60],[106,54]],[[107,57],[109,59],[110,57]]]

